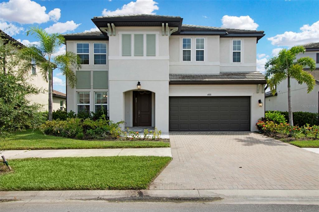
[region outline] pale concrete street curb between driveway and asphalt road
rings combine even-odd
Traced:
[[[308,198],[319,199],[319,190],[203,189],[203,190],[74,190],[0,191],[0,202],[8,200],[140,200],[201,198]]]

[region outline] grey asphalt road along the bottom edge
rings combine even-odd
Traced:
[[[220,204],[219,202],[108,202],[108,201],[9,201],[0,203],[1,212],[87,212],[87,211],[319,211],[319,205],[297,204]]]

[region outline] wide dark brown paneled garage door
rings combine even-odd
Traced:
[[[250,131],[249,96],[171,96],[170,131]]]

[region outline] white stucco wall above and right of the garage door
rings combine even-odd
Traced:
[[[256,131],[255,124],[264,116],[264,106],[259,107],[258,100],[264,102],[261,89],[257,93],[256,85],[169,85],[169,96],[250,96],[250,130]]]

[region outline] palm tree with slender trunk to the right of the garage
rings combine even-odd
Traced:
[[[296,55],[304,53],[303,46],[293,46],[291,49],[282,49],[278,56],[275,56],[265,64],[265,78],[272,95],[276,93],[276,86],[283,80],[288,80],[288,114],[289,124],[293,126],[293,112],[291,106],[290,79],[295,79],[299,84],[307,84],[307,92],[314,89],[314,77],[303,69],[308,67],[310,71],[315,69],[315,60],[310,57],[302,57],[296,60]]]

